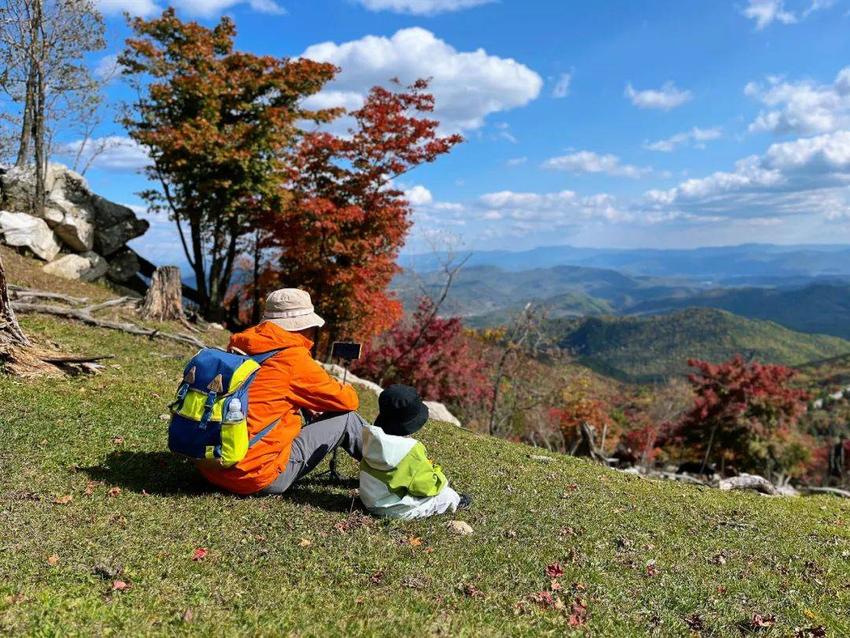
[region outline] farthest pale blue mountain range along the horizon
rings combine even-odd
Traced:
[[[405,255],[403,268],[438,270],[445,253]],[[586,266],[630,275],[684,277],[715,285],[758,284],[792,277],[850,276],[850,246],[743,244],[690,250],[578,248],[545,246],[526,251],[473,251],[467,266],[495,266],[506,271]]]

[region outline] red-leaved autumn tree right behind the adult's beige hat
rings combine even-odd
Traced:
[[[366,340],[401,317],[387,287],[412,209],[394,180],[462,141],[438,134],[427,89],[425,80],[374,87],[348,114],[347,135],[305,134],[290,167],[290,204],[268,219],[272,280],[312,294],[328,341]]]

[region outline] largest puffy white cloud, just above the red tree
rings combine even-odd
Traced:
[[[337,44],[323,42],[302,57],[332,62],[342,70],[327,91],[308,101],[334,104],[334,95],[352,101],[376,84],[397,77],[403,83],[431,78],[436,98],[434,116],[444,131],[480,128],[491,113],[524,106],[540,94],[541,77],[510,58],[483,49],[460,52],[425,29],[402,29],[392,37],[369,35]]]

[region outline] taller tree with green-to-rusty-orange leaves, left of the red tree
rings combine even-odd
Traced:
[[[209,29],[167,9],[130,27],[119,61],[138,97],[122,123],[157,185],[142,195],[176,223],[201,312],[222,320],[237,257],[250,249],[260,217],[286,206],[303,122],[339,114],[301,105],[337,69],[236,51],[227,17]]]

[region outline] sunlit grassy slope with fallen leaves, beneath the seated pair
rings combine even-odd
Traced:
[[[456,516],[471,536],[374,520],[354,482],[236,498],[165,449],[188,349],[22,323],[116,358],[96,377],[0,377],[0,633],[850,633],[846,502],[652,482],[440,423],[421,438],[475,497]]]

